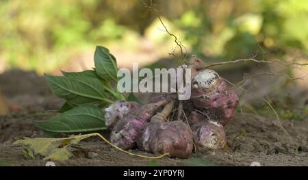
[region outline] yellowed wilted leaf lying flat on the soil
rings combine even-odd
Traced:
[[[23,145],[23,155],[34,158],[41,155],[44,160],[63,161],[73,156],[66,148],[79,141],[94,136],[93,134],[70,136],[69,138],[25,138],[14,144]]]

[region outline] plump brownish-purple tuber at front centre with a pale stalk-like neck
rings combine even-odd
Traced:
[[[143,125],[137,137],[138,149],[155,154],[169,153],[170,157],[187,158],[193,149],[192,130],[180,120],[166,122],[174,101]]]

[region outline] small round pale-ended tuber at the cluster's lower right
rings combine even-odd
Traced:
[[[198,151],[223,149],[227,144],[224,127],[212,120],[204,120],[201,114],[192,112],[189,117],[194,144]]]

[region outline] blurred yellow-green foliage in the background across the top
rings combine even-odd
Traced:
[[[188,53],[230,60],[257,52],[308,52],[308,1],[153,3]],[[140,0],[2,0],[0,71],[2,66],[2,70],[18,67],[52,72],[82,51],[94,52],[97,44],[138,53],[144,39],[151,42],[150,49],[162,49],[167,56],[174,44],[159,25],[155,13]]]

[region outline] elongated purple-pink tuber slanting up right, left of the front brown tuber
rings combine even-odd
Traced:
[[[142,125],[148,122],[160,107],[166,105],[169,101],[170,99],[167,98],[157,103],[143,105],[138,110],[118,120],[110,135],[111,142],[121,149],[133,149],[136,146],[136,137]]]

